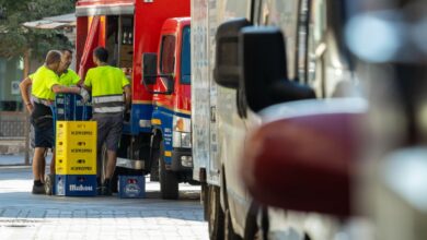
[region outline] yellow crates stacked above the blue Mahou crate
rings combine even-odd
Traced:
[[[96,122],[58,121],[56,173],[96,175]]]

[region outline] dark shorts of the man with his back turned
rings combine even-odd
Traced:
[[[94,115],[97,123],[97,149],[105,143],[108,151],[117,151],[122,137],[123,115]]]

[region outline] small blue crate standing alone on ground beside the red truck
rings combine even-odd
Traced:
[[[146,197],[145,176],[118,176],[118,196],[120,199]]]

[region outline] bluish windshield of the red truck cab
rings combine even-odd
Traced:
[[[192,55],[191,55],[191,28],[184,27],[183,46],[181,52],[181,83],[189,84],[192,82]]]

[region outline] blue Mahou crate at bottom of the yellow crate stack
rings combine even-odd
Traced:
[[[57,175],[55,192],[62,196],[95,196],[96,175]]]

